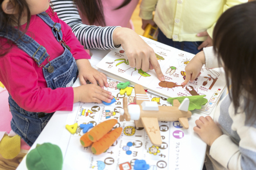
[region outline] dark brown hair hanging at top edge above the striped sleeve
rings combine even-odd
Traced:
[[[119,7],[113,10],[118,10],[126,6],[130,1],[131,0],[124,0]],[[77,7],[79,7],[81,13],[87,17],[91,25],[97,23],[101,26],[106,26],[102,0],[74,0],[74,2],[77,4]]]

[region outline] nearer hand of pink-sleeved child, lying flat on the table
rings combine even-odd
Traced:
[[[74,103],[75,102],[95,102],[95,103],[102,103],[104,102],[111,102],[113,96],[111,92],[100,88],[98,85],[89,84],[89,85],[81,85],[78,87],[74,87]]]

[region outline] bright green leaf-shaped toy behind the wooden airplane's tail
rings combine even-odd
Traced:
[[[173,100],[177,99],[181,103],[185,98],[189,98],[189,110],[201,109],[202,105],[205,105],[208,100],[203,98],[206,95],[193,95],[193,96],[182,96],[182,97],[170,97],[167,102],[171,102],[173,105]]]

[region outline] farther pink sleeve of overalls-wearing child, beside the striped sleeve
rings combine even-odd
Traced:
[[[78,41],[77,37],[72,32],[70,26],[68,26],[63,20],[61,20],[57,13],[53,14],[52,10],[46,10],[46,13],[52,18],[54,22],[61,24],[61,31],[63,34],[63,41],[70,47],[70,52],[73,54],[73,57],[77,59],[91,59],[91,56],[84,50],[84,46]]]

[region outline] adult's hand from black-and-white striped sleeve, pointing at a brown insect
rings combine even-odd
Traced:
[[[153,48],[147,45],[136,32],[129,28],[118,27],[113,32],[113,41],[115,45],[122,45],[131,67],[142,69],[142,71],[154,68],[158,79],[165,81]]]

